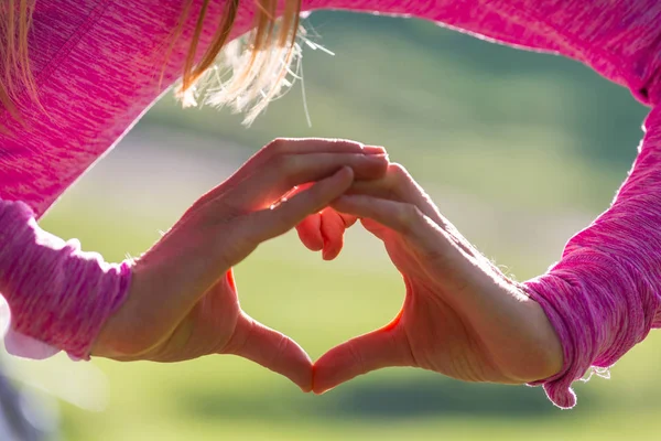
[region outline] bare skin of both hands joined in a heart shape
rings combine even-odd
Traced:
[[[383,241],[405,300],[390,323],[313,364],[294,341],[241,311],[231,267],[294,227],[304,245],[333,259],[357,218]],[[390,366],[523,384],[563,364],[540,305],[382,148],[318,139],[272,142],[197,201],[136,262],[128,299],[93,349],[117,361],[209,354],[246,357],[316,394]]]

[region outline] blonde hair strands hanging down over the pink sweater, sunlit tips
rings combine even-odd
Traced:
[[[19,95],[28,92],[37,101],[37,88],[29,58],[28,34],[36,0],[4,0],[0,7],[0,56],[4,71],[0,72],[0,105],[20,119],[17,107]],[[185,0],[182,18],[172,35],[170,51],[181,37],[184,23],[191,15],[195,0]],[[296,44],[300,31],[301,0],[282,0],[282,17],[278,19],[280,0],[253,0],[253,29],[247,35],[229,41],[239,9],[239,0],[224,0],[221,22],[209,46],[196,62],[199,37],[212,0],[202,0],[193,39],[188,47],[182,79],[175,93],[184,107],[197,105],[205,94],[205,103],[230,106],[246,112],[250,123],[279,96],[282,86],[290,85],[288,74],[292,61],[300,55]],[[214,0],[217,1],[217,0]],[[247,1],[247,0],[243,0]]]

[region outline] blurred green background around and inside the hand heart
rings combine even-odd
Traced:
[[[418,20],[317,12],[306,26],[335,53],[304,54],[312,127],[300,83],[250,129],[239,116],[182,110],[167,96],[43,227],[118,261],[148,249],[271,139],[340,137],[386,146],[466,237],[525,280],[608,207],[636,155],[646,108],[578,63]],[[386,323],[403,294],[381,245],[359,227],[334,262],[289,234],[236,272],[243,309],[313,358]],[[37,394],[39,409],[66,440],[619,440],[658,433],[660,345],[652,333],[613,379],[578,384],[571,411],[541,388],[402,368],[316,397],[230,356],[7,363],[20,384],[47,392]]]

